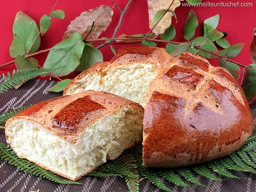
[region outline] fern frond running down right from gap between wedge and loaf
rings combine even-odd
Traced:
[[[142,165],[142,146],[141,144],[136,145],[134,148],[130,150],[131,154],[133,154],[134,158],[136,159],[136,164],[138,166],[138,172],[144,178],[148,179],[152,184],[157,186],[158,188],[171,192],[167,186],[160,180],[156,172],[150,170]]]

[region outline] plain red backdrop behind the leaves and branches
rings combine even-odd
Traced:
[[[120,6],[123,10],[128,0],[114,0],[114,2]],[[157,0],[156,0],[157,2]],[[202,2],[207,2],[202,0]],[[237,0],[208,0],[208,2],[237,2]],[[222,32],[228,32],[226,39],[230,44],[236,44],[240,42],[245,42],[246,46],[243,48],[240,55],[234,58],[235,61],[248,65],[252,63],[250,58],[250,44],[252,42],[253,29],[256,27],[255,15],[256,15],[256,2],[253,0],[243,0],[240,1],[253,3],[252,7],[178,7],[175,12],[178,18],[178,22],[175,23],[175,19],[172,19],[172,23],[176,28],[176,38],[175,41],[184,42],[183,38],[183,25],[185,22],[186,15],[189,10],[193,9],[198,17],[198,28],[196,30],[196,36],[202,36],[203,32],[203,21],[206,18],[214,16],[215,14],[220,14],[220,23],[218,28]],[[16,13],[21,10],[28,16],[33,18],[39,25],[39,20],[44,14],[49,14],[54,6],[55,1],[52,0],[10,0],[2,1],[0,8],[0,26],[1,26],[1,37],[0,37],[0,65],[10,62],[13,58],[9,55],[9,46],[12,42],[12,24],[14,22],[14,17]],[[63,20],[57,18],[52,18],[52,25],[48,32],[42,36],[41,45],[39,50],[44,50],[51,48],[56,43],[62,40],[62,36],[66,31],[67,26],[70,24],[74,18],[80,15],[81,12],[89,10],[91,8],[96,8],[100,5],[113,6],[112,0],[60,0],[57,9],[65,11],[66,17]],[[122,25],[118,30],[117,36],[124,33],[126,35],[147,33],[148,28],[148,6],[146,0],[133,0],[130,4],[124,18],[122,20]],[[114,28],[116,27],[120,12],[117,8],[114,8],[114,15],[112,22],[106,32],[103,32],[102,37],[111,37]],[[138,45],[138,44],[136,44]],[[126,45],[114,45],[116,50]],[[158,46],[164,47],[165,44],[158,44]],[[110,50],[109,46],[105,46],[100,49],[104,56],[104,61],[108,61],[114,55]],[[40,65],[44,64],[48,53],[40,54],[35,56],[38,59]],[[217,60],[211,60],[212,64],[218,65]],[[12,71],[15,68],[14,64],[0,68],[0,74]],[[73,78],[76,74],[68,76]],[[65,77],[66,78],[66,77]],[[48,79],[48,78],[41,78]],[[64,79],[64,78],[63,78]],[[241,81],[241,79],[240,79]]]

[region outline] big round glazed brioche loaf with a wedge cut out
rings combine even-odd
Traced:
[[[74,78],[64,95],[88,89],[145,108],[144,166],[186,166],[226,156],[252,134],[252,114],[238,82],[225,68],[187,52],[172,58],[163,48],[121,48],[110,62]]]

